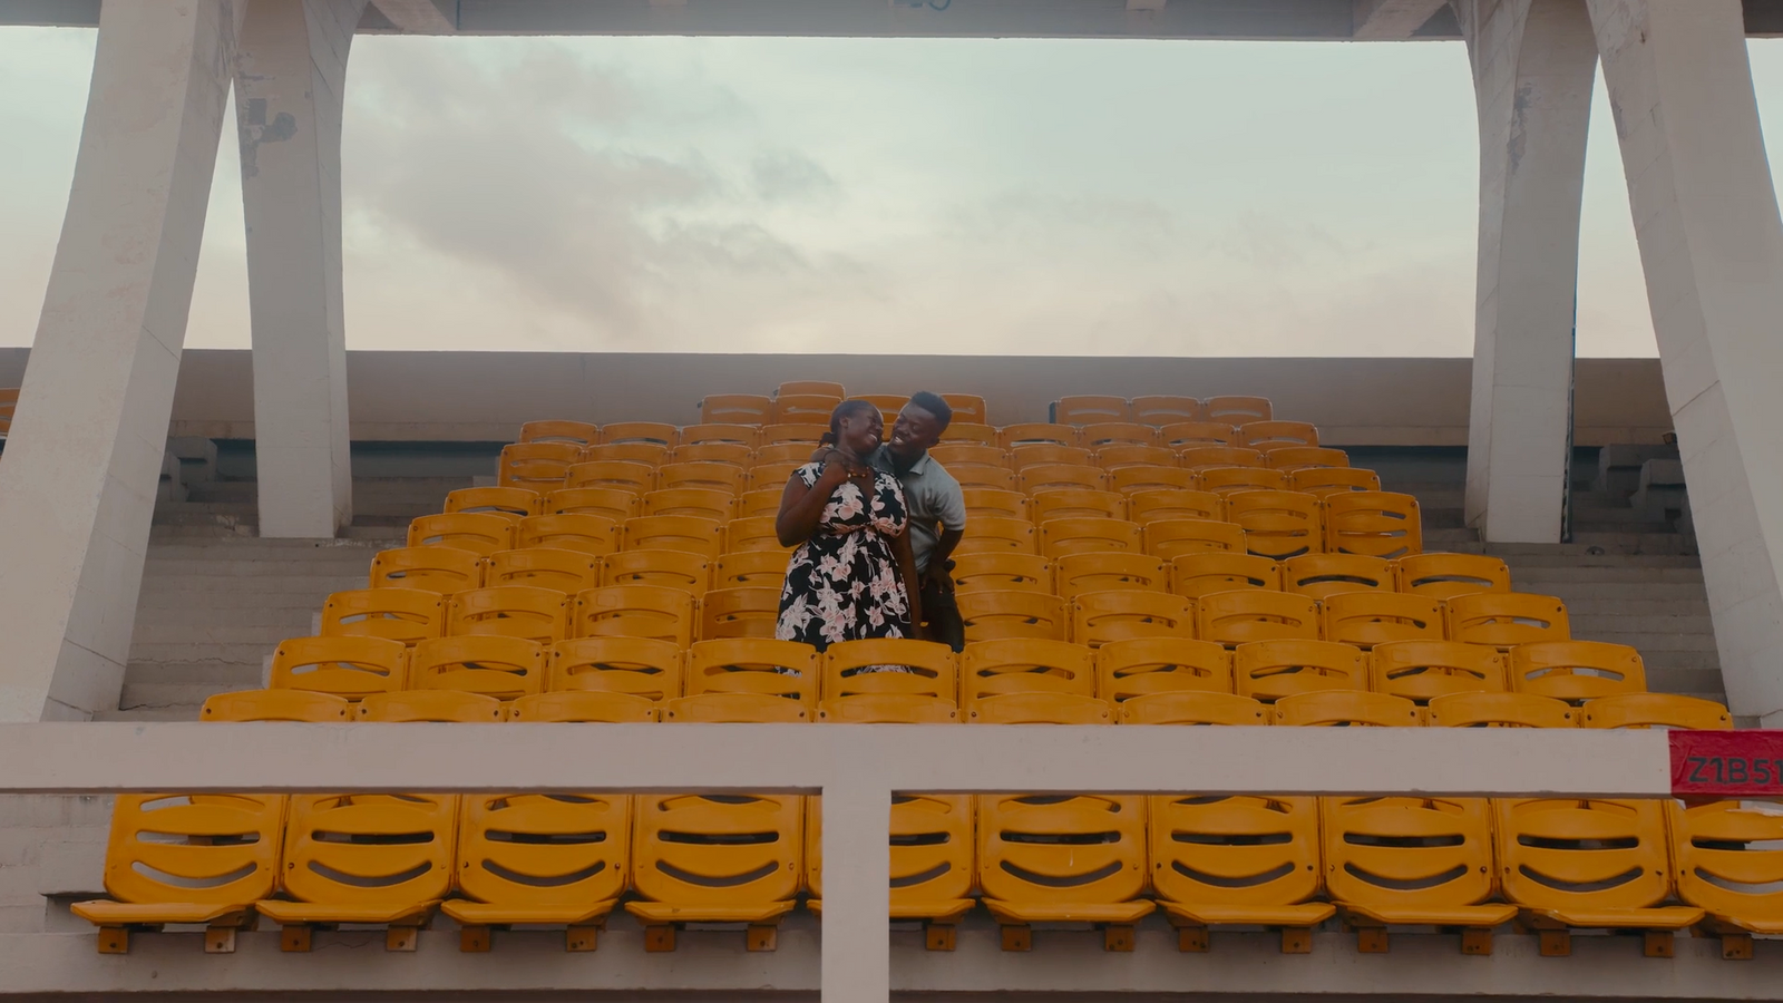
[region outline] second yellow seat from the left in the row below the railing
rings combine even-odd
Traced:
[[[451,891],[456,823],[456,794],[292,796],[280,876],[292,901],[255,908],[282,926],[285,951],[308,951],[310,928],[335,923],[387,926],[385,949],[414,951]]]

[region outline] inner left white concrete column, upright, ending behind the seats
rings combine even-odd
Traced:
[[[341,93],[366,0],[246,0],[235,73],[262,537],[353,519]]]

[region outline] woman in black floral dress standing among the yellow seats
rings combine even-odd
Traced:
[[[836,641],[915,637],[922,623],[904,489],[870,466],[884,423],[865,400],[829,414],[827,450],[786,480],[774,530],[797,546],[774,637],[818,651]]]

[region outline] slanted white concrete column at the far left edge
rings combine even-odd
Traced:
[[[228,0],[105,0],[0,462],[0,721],[116,709],[235,55]]]

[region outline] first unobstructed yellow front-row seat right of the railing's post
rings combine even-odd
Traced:
[[[1150,916],[1145,798],[979,794],[979,887],[1006,951],[1034,923],[1095,923],[1104,949],[1130,951]]]

